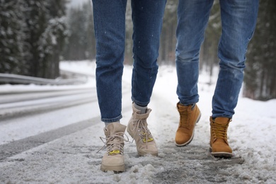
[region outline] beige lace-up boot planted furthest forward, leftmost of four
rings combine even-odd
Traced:
[[[110,123],[103,129],[106,139],[105,145],[108,151],[103,155],[100,170],[102,171],[125,171],[125,158],[124,158],[124,138],[125,129],[127,126],[121,125],[118,122]],[[103,149],[103,148],[102,148]]]

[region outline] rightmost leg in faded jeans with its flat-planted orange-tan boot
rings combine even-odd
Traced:
[[[220,6],[222,37],[218,52],[219,77],[212,99],[210,145],[213,156],[231,157],[227,127],[243,82],[246,50],[255,30],[258,0],[223,0]]]

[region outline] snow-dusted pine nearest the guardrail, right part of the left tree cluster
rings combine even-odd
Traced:
[[[62,50],[66,25],[64,0],[25,0],[25,42],[29,50],[30,76],[56,78],[59,76],[59,52]],[[54,9],[55,8],[55,9]]]

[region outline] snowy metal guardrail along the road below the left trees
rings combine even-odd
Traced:
[[[16,74],[0,74],[0,82],[14,84],[38,84],[38,85],[70,85],[70,84],[85,84],[87,77],[76,79],[43,79],[33,76],[21,76]]]

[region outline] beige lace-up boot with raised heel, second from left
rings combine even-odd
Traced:
[[[158,150],[156,142],[146,123],[146,118],[149,117],[151,109],[148,108],[145,114],[140,114],[140,110],[135,108],[134,104],[132,104],[132,109],[133,113],[127,125],[127,132],[135,140],[138,154],[141,156],[145,154],[157,156]]]

